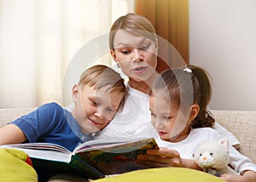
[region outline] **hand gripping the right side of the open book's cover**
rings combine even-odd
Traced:
[[[167,148],[150,149],[147,154],[137,156],[137,163],[152,168],[183,167],[179,153]]]

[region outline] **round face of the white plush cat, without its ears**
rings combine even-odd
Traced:
[[[195,162],[201,168],[224,168],[230,162],[228,147],[218,140],[201,144],[194,154]]]

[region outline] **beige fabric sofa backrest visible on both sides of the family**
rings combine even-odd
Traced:
[[[0,109],[0,128],[34,108]],[[216,122],[227,128],[240,141],[237,150],[256,163],[256,111],[212,110]]]

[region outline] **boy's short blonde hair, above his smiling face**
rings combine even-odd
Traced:
[[[88,85],[96,89],[109,86],[108,91],[126,92],[124,79],[118,72],[107,65],[93,65],[88,68],[80,77],[79,85]]]

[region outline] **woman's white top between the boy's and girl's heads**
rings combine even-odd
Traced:
[[[149,96],[127,85],[125,105],[95,139],[154,137],[150,122]]]

